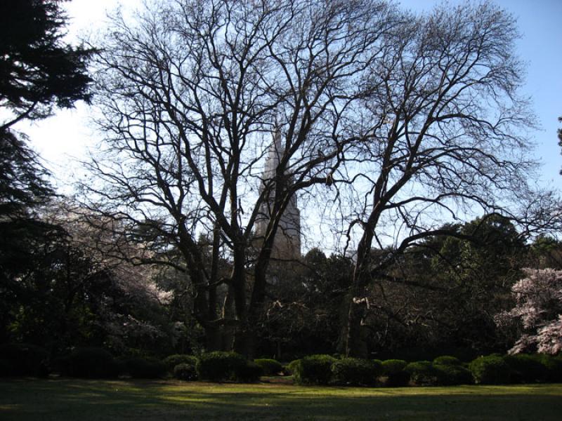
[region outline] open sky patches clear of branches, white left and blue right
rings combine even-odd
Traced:
[[[403,0],[403,7],[412,11],[430,11],[442,3],[433,0]],[[448,4],[464,3],[450,0]],[[138,0],[72,0],[65,4],[70,24],[68,39],[75,42],[80,36],[96,34],[107,20],[106,11],[119,4],[124,8],[137,7]],[[540,179],[549,189],[562,191],[561,148],[556,130],[562,127],[562,0],[495,0],[495,4],[514,15],[522,38],[516,42],[518,54],[527,63],[526,83],[522,93],[532,98],[539,129],[531,133],[537,145],[535,159],[541,161]],[[61,110],[54,116],[36,123],[20,123],[16,127],[27,133],[32,147],[53,173],[62,192],[71,192],[72,179],[84,170],[77,160],[85,159],[98,135],[89,122],[90,110],[84,104],[75,109]]]

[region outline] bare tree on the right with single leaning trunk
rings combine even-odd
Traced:
[[[342,335],[352,355],[365,354],[361,298],[370,282],[397,253],[453,234],[442,222],[501,214],[532,229],[558,218],[544,211],[554,198],[530,188],[532,114],[518,96],[514,19],[491,4],[443,6],[396,35],[365,81],[364,141],[348,149],[336,182],[350,186],[346,233],[360,239]],[[393,252],[373,261],[389,232]]]

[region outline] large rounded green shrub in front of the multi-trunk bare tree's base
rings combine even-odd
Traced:
[[[209,352],[197,360],[197,376],[211,382],[235,380],[237,370],[245,364],[246,359],[235,352]]]

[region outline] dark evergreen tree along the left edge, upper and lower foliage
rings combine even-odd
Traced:
[[[21,274],[38,264],[41,248],[52,236],[61,235],[60,229],[35,215],[37,207],[53,196],[53,189],[26,136],[13,126],[46,118],[55,107],[91,99],[86,62],[93,51],[65,44],[66,18],[60,3],[0,2],[1,310],[17,298],[10,294],[21,286]]]

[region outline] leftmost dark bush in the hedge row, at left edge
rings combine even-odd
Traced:
[[[48,374],[48,352],[31,344],[6,344],[0,346],[0,375],[33,375],[44,377]]]

